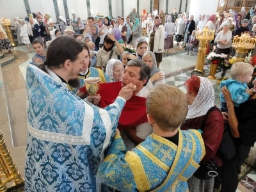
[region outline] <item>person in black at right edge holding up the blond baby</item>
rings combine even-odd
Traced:
[[[255,93],[256,79],[254,79],[253,84],[253,92]],[[230,161],[223,163],[221,191],[235,192],[241,165],[248,157],[250,148],[256,142],[256,94],[235,109],[228,89],[224,86],[221,92],[223,92],[228,108],[228,113],[223,113],[223,118],[230,126],[230,132],[236,147],[236,155]]]

